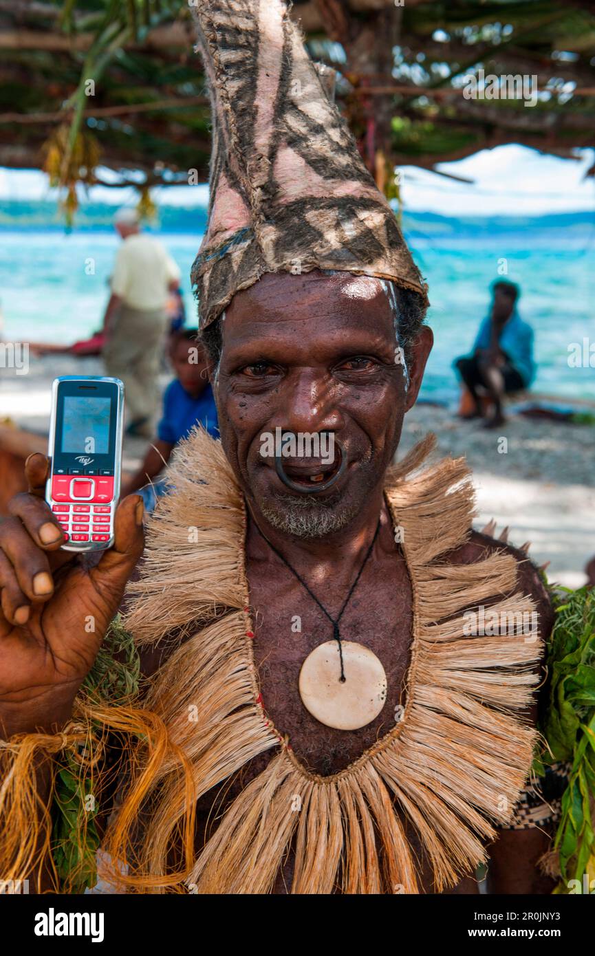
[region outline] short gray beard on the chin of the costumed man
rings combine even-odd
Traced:
[[[311,495],[275,494],[260,504],[260,511],[277,531],[297,538],[319,538],[341,531],[358,513],[357,505],[341,506],[340,502],[341,497],[322,502]]]

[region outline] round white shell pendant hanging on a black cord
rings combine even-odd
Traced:
[[[299,671],[303,706],[326,727],[357,730],[378,716],[386,701],[386,673],[373,651],[355,641],[325,641],[308,654]]]

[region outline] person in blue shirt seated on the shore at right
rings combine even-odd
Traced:
[[[535,378],[533,329],[518,315],[518,286],[501,279],[492,288],[492,309],[479,327],[473,354],[454,362],[474,399],[474,410],[465,418],[483,415],[477,386],[488,393],[492,413],[487,428],[504,423],[503,396],[528,388]]]

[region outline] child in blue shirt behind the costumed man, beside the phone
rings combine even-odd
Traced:
[[[165,389],[157,438],[149,445],[139,470],[122,483],[122,498],[142,489],[144,506],[148,511],[155,507],[156,496],[166,490],[163,479],[153,479],[157,478],[169,461],[175,445],[187,437],[190,429],[195,424],[202,424],[209,435],[219,437],[217,409],[207,378],[207,361],[196,336],[196,329],[182,329],[170,337],[169,359],[175,379]]]

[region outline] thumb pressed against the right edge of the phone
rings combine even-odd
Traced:
[[[143,554],[143,498],[129,494],[124,498],[114,516],[114,545],[103,554],[90,576],[99,588],[108,585],[114,598],[120,603],[128,578]]]

